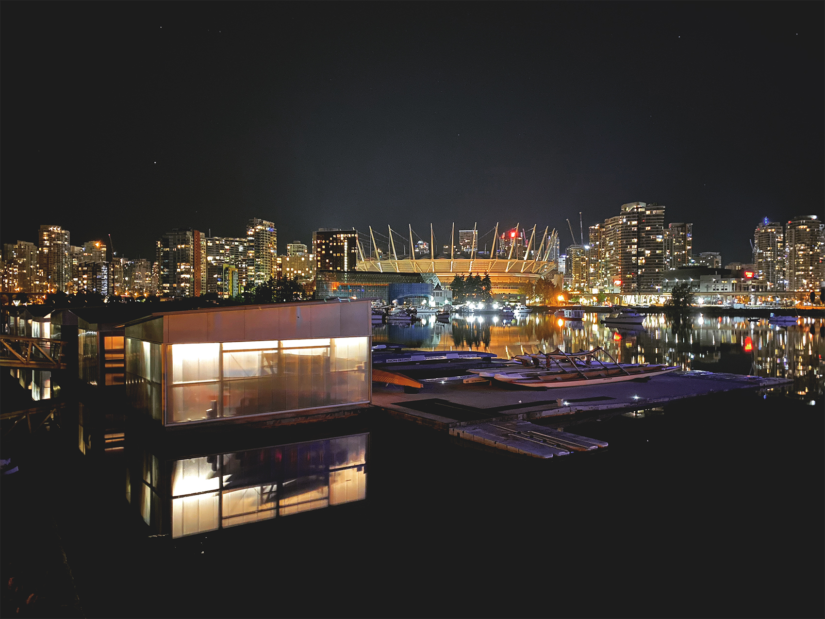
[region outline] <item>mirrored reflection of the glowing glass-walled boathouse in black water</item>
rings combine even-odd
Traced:
[[[126,496],[153,532],[172,537],[361,501],[368,438],[354,434],[169,461],[143,451],[126,470]]]

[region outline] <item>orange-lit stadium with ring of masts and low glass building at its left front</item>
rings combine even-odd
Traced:
[[[479,234],[475,226],[456,230],[454,225],[450,243],[441,247],[432,225],[424,238],[412,226],[404,234],[389,226],[385,230],[386,234],[372,227],[356,231],[355,271],[318,272],[316,294],[401,301],[431,296],[424,287],[450,286],[455,276],[479,275],[489,276],[495,298],[506,299],[519,295],[527,281],[549,279],[558,272],[559,237],[549,226],[524,229],[516,224],[501,230],[496,224]]]

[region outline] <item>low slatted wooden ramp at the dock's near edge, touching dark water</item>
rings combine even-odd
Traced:
[[[593,451],[600,447],[607,447],[606,442],[595,438],[580,437],[570,432],[561,432],[518,420],[450,428],[450,434],[496,449],[544,459],[567,456],[571,451]]]

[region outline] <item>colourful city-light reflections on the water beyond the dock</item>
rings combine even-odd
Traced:
[[[689,370],[794,378],[799,396],[823,393],[823,319],[777,327],[766,319],[692,316],[674,324],[651,314],[640,328],[601,324],[603,316],[564,321],[553,314],[498,317],[454,316],[449,324],[431,318],[413,326],[378,325],[375,342],[395,342],[425,350],[480,349],[498,357],[560,347],[568,352],[601,346],[624,363],[668,363]]]

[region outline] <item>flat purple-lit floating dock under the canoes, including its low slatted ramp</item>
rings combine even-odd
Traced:
[[[373,404],[390,414],[460,439],[537,458],[593,451],[605,442],[546,428],[531,420],[586,411],[620,411],[660,406],[677,399],[742,389],[765,389],[793,382],[705,371],[674,371],[610,385],[535,390],[490,381],[464,383],[470,376],[422,380],[417,393],[374,383]]]

